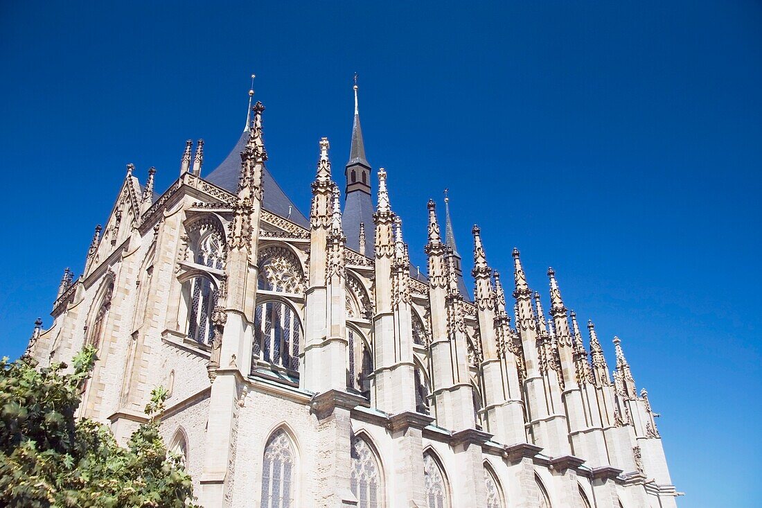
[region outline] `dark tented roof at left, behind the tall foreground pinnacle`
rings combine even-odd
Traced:
[[[240,154],[243,152],[247,140],[248,130],[245,130],[225,160],[204,179],[235,194],[238,191],[239,175],[241,172]],[[309,229],[309,220],[306,219],[302,212],[299,211],[299,208],[296,207],[296,204],[293,204],[293,201],[283,192],[283,189],[280,188],[280,185],[275,181],[275,178],[273,178],[267,167],[262,172],[262,186],[264,187],[263,207],[265,210]],[[289,207],[291,207],[290,213]]]

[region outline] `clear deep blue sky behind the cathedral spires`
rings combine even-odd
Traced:
[[[163,191],[186,139],[207,174],[226,156],[251,72],[269,167],[307,211],[320,137],[343,178],[357,71],[414,262],[449,187],[468,270],[479,223],[546,300],[555,268],[610,365],[622,337],[680,506],[760,506],[759,2],[223,4],[0,4],[0,353],[50,326],[127,162]]]

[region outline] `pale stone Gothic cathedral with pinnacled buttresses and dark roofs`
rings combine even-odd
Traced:
[[[252,95],[212,171],[203,140],[163,192],[126,166],[82,274],[66,268],[52,325],[35,323],[41,365],[98,350],[78,416],[126,442],[165,387],[165,441],[207,508],[677,506],[624,345],[610,371],[562,275],[534,291],[520,252],[492,254],[478,226],[464,274],[447,198],[421,204],[427,270],[411,269],[404,182],[366,158],[357,84],[344,176],[322,138],[303,214]],[[513,281],[488,253],[512,256]]]

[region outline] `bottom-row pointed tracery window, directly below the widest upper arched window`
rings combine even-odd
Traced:
[[[290,508],[294,506],[296,481],[294,453],[291,440],[279,429],[267,440],[262,464],[261,508]]]

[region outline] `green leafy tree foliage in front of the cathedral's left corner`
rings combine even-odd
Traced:
[[[166,391],[152,392],[148,423],[120,446],[110,429],[75,420],[95,350],[66,365],[0,360],[0,506],[186,508],[193,484],[181,458],[167,455],[158,415]]]

